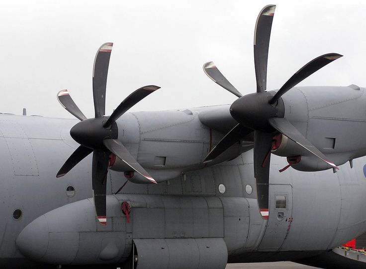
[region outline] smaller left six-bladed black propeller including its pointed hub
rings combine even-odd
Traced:
[[[56,177],[64,176],[82,159],[93,152],[92,190],[96,216],[102,225],[107,224],[106,179],[113,154],[121,159],[127,167],[130,167],[130,171],[135,171],[144,176],[147,182],[157,183],[117,139],[118,129],[115,121],[143,98],[160,89],[160,87],[149,85],[134,91],[122,101],[112,115],[105,117],[105,90],[112,46],[113,43],[101,45],[94,60],[93,99],[95,118],[87,119],[74,103],[67,90],[60,91],[57,95],[60,104],[81,122],[76,124],[70,131],[71,136],[80,143],[80,146],[66,160]]]

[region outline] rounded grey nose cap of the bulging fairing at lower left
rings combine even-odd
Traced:
[[[40,260],[47,251],[49,229],[45,215],[28,224],[18,235],[15,243],[19,251],[32,260]]]

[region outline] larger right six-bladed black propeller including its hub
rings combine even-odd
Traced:
[[[284,118],[284,106],[281,96],[296,84],[342,57],[337,53],[321,55],[298,70],[278,91],[266,92],[267,61],[272,21],[275,5],[267,5],[259,13],[254,34],[254,64],[257,79],[257,92],[242,96],[221,74],[213,62],[203,65],[203,71],[214,82],[237,97],[230,107],[231,116],[239,123],[208,153],[204,162],[212,161],[242,137],[254,132],[254,175],[257,179],[258,204],[264,219],[269,215],[269,174],[271,149],[276,133],[281,133],[297,144],[328,163],[329,167],[338,167],[327,161],[322,152],[313,146],[298,130]]]

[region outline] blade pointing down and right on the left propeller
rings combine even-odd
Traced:
[[[149,181],[157,184],[155,179],[149,175],[148,172],[135,160],[135,158],[128,152],[125,146],[117,139],[104,139],[103,144],[108,148],[114,155],[120,158],[126,163],[132,170],[136,171]]]

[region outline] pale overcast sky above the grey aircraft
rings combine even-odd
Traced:
[[[214,61],[241,93],[254,92],[254,26],[266,4],[277,5],[267,89],[329,52],[344,57],[300,86],[366,86],[365,0],[12,0],[0,8],[0,112],[72,118],[56,99],[68,89],[93,117],[92,65],[109,41],[107,115],[150,84],[162,88],[131,111],[232,103],[202,65]]]

